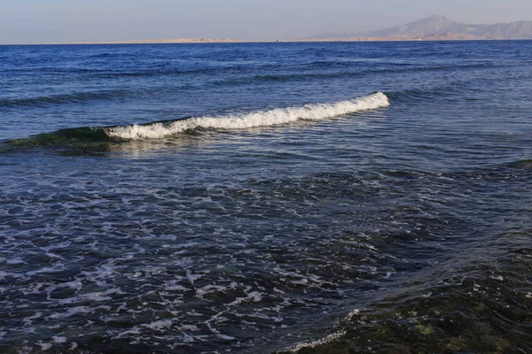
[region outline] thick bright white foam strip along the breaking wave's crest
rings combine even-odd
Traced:
[[[389,105],[382,92],[339,101],[331,104],[305,104],[301,107],[276,108],[270,111],[240,113],[220,117],[194,117],[171,123],[137,124],[125,127],[110,127],[106,134],[121,139],[158,139],[186,130],[203,128],[242,129],[247,127],[269,127],[290,123],[299,119],[326,119],[344,114],[373,110]]]

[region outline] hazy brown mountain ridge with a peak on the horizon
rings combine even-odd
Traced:
[[[309,39],[532,39],[532,21],[497,23],[495,25],[468,25],[432,15],[403,26],[376,31],[353,33],[325,33]]]

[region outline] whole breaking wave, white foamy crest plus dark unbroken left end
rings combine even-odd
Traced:
[[[347,101],[330,104],[305,104],[300,107],[276,108],[270,111],[234,113],[212,117],[190,117],[130,126],[74,127],[0,142],[0,152],[44,146],[94,149],[95,146],[100,144],[120,144],[121,142],[132,140],[160,139],[200,129],[269,127],[300,119],[326,119],[386,107],[387,105],[389,105],[387,96],[381,92],[376,92]]]

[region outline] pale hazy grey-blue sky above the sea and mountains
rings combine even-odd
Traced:
[[[532,0],[0,0],[0,43],[276,39],[402,25],[532,20]]]

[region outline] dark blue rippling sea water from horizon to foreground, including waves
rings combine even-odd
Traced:
[[[0,351],[532,352],[530,53],[0,47]]]

